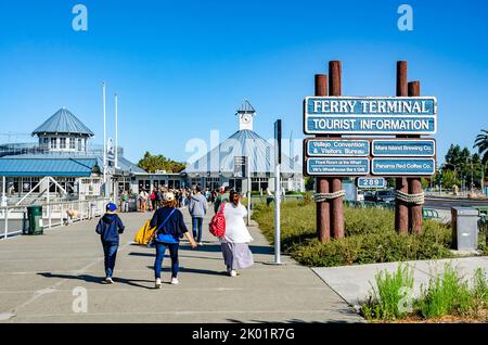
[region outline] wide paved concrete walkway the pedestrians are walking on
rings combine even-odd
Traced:
[[[183,214],[190,225],[188,210]],[[103,254],[95,221],[47,231],[43,237],[0,241],[0,322],[362,322],[311,269],[273,250],[259,229],[256,265],[237,278],[224,273],[218,242],[204,225],[204,246],[180,250],[180,284],[170,285],[169,258],[163,290],[154,290],[154,250],[131,244],[150,214],[124,214],[114,285],[101,284]],[[86,290],[88,312],[80,295]],[[75,308],[74,308],[75,307]]]

